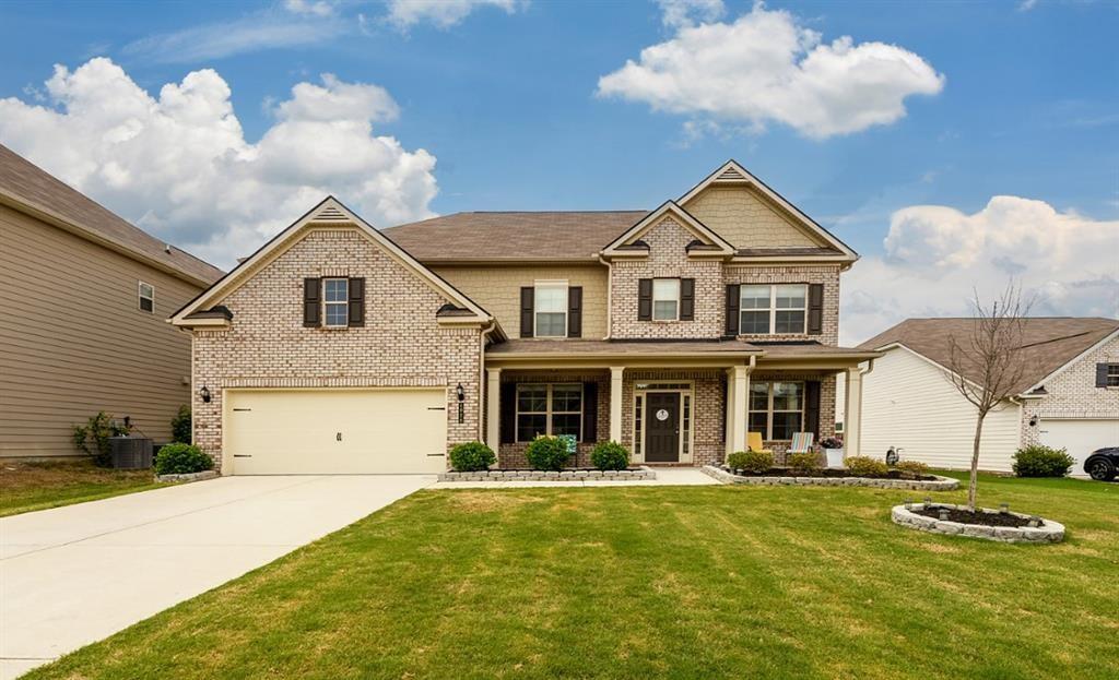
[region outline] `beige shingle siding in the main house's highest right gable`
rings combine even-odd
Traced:
[[[736,248],[829,247],[756,189],[712,186],[684,208]]]

